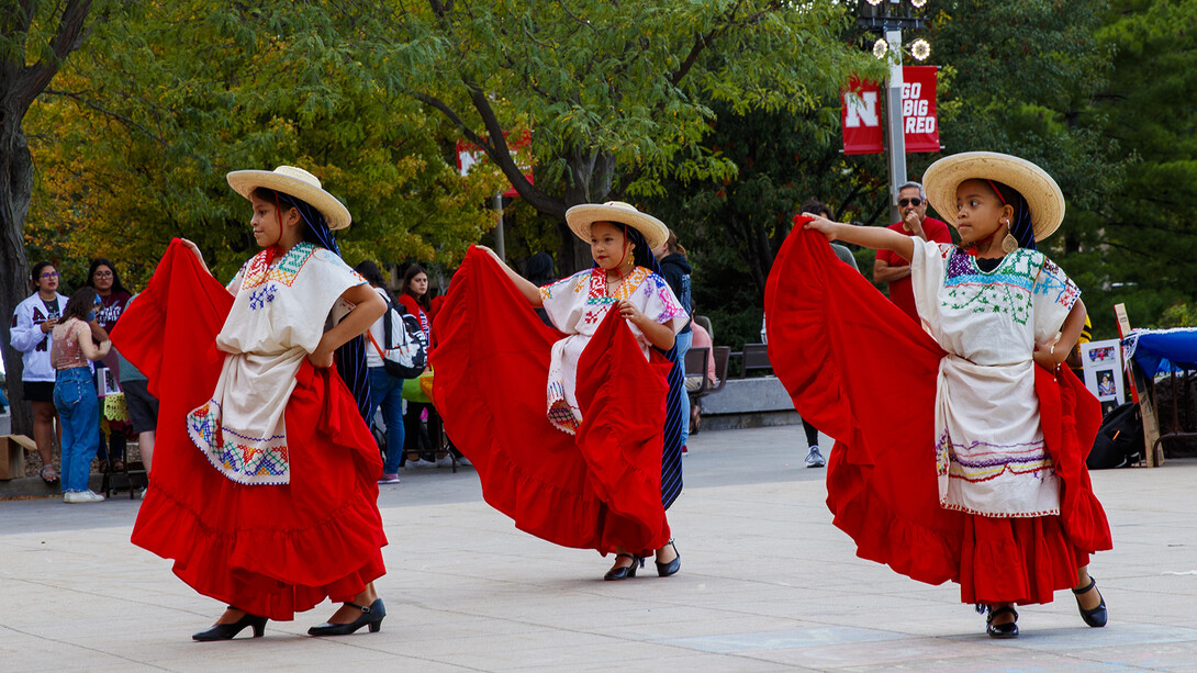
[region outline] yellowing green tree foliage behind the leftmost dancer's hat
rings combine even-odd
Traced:
[[[353,214],[350,263],[460,259],[502,177],[458,177],[448,125],[381,87],[330,11],[145,2],[102,26],[31,119],[30,247],[68,273],[104,254],[144,278],[183,236],[229,277],[255,248],[225,172],[293,164]]]

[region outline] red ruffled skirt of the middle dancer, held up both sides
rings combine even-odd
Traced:
[[[577,435],[545,416],[546,327],[488,254],[472,248],[432,333],[432,398],[478,469],[482,497],[516,527],[567,547],[648,553],[669,540],[661,451],[669,363],[644,359],[608,311],[578,362]]]

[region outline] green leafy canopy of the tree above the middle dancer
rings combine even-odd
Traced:
[[[393,86],[457,125],[558,222],[576,204],[661,195],[669,180],[730,178],[736,164],[703,143],[716,105],[809,109],[870,66],[838,40],[851,19],[844,6],[824,0],[430,0],[427,10],[391,19]],[[535,184],[503,140],[529,127]],[[589,260],[565,245],[559,262],[567,272]]]

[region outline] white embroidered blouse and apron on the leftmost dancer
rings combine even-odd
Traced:
[[[187,416],[187,429],[208,461],[238,484],[287,484],[284,422],[304,358],[326,325],[352,305],[341,299],[365,283],[341,257],[302,242],[267,263],[262,250],[229,284],[236,296],[217,347],[229,353],[212,399]]]

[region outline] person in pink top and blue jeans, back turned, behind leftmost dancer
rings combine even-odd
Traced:
[[[96,320],[96,291],[81,287],[71,296],[54,326],[54,406],[62,420],[62,502],[96,503],[104,496],[87,487],[91,461],[99,449],[99,400],[91,363],[108,354],[113,342]]]

